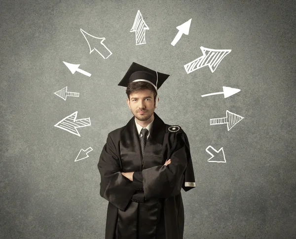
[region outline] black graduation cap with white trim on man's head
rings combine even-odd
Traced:
[[[133,62],[118,85],[127,87],[130,82],[146,81],[152,84],[157,92],[169,76]]]

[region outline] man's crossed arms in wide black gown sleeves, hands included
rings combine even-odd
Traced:
[[[134,172],[121,172],[122,166],[117,156],[120,152],[117,151],[109,134],[98,163],[101,197],[124,211],[139,187],[143,188],[147,200],[180,194],[184,180],[183,173],[187,166],[184,142],[183,136],[180,136],[170,159],[163,165],[137,172],[139,177],[135,177]]]

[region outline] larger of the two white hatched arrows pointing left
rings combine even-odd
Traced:
[[[72,115],[65,117],[63,120],[57,122],[54,126],[64,129],[72,134],[78,135],[80,137],[80,134],[77,130],[77,128],[85,127],[90,125],[90,119],[79,119],[77,118],[77,111],[74,112]]]

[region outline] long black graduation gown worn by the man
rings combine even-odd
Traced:
[[[167,159],[171,163],[163,165]],[[144,154],[135,117],[108,134],[100,155],[100,195],[109,201],[105,239],[183,239],[181,188],[195,187],[190,148],[180,126],[154,121]],[[121,172],[134,171],[133,181]]]

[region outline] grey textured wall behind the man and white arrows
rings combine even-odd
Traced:
[[[133,116],[117,86],[134,61],[170,77],[156,113],[180,125],[197,187],[185,193],[185,239],[296,237],[296,15],[293,1],[0,1],[0,238],[103,239],[108,201],[97,163],[108,133]],[[140,10],[149,30],[135,44]],[[170,43],[192,18],[189,35]],[[113,53],[89,54],[80,32]],[[99,47],[99,41],[93,44]],[[231,49],[215,72],[187,74],[200,46]],[[91,73],[74,75],[63,61]],[[68,86],[79,98],[54,92]],[[241,89],[224,99],[222,86]],[[244,117],[227,131],[210,119]],[[54,127],[78,111],[81,137]],[[209,146],[226,163],[208,162]],[[89,158],[74,162],[81,148]]]

